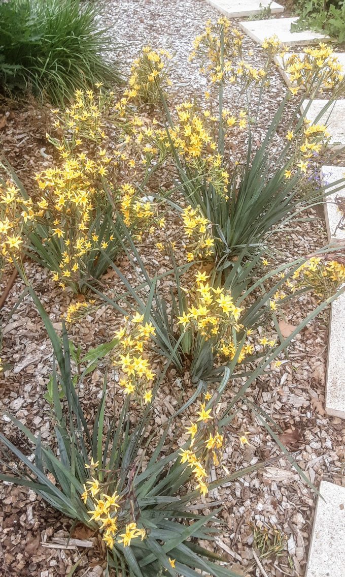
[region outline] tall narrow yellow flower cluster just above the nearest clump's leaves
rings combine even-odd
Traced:
[[[151,323],[143,324],[143,314],[136,313],[130,320],[124,318],[124,326],[115,333],[119,344],[115,349],[113,364],[120,368],[119,384],[129,395],[135,393],[144,403],[152,398],[150,390],[154,373],[145,348],[156,330]]]

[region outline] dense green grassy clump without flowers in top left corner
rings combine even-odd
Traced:
[[[75,88],[120,79],[103,53],[109,36],[98,29],[96,8],[79,0],[9,0],[0,3],[0,85],[32,91],[52,103]]]

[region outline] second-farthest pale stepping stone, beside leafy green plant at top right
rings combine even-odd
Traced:
[[[242,30],[248,34],[255,42],[262,44],[266,38],[278,36],[280,44],[293,46],[294,44],[312,44],[325,40],[328,36],[304,30],[301,32],[291,32],[290,26],[298,18],[276,18],[276,20],[255,20],[240,22]]]

